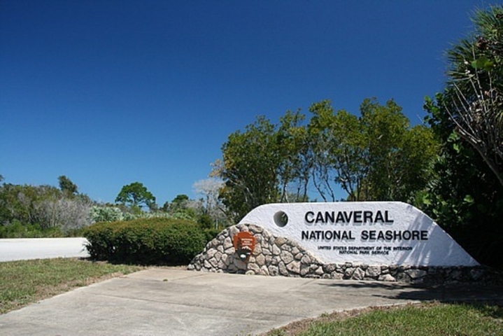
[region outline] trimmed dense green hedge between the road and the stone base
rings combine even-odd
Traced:
[[[101,222],[83,235],[93,260],[142,265],[185,265],[206,244],[197,223],[173,218]]]

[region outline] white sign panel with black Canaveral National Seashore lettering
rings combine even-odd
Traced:
[[[430,217],[402,202],[265,204],[239,224],[293,239],[325,262],[479,265]]]

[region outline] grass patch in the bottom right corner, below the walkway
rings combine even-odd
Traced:
[[[292,323],[267,335],[503,335],[503,307],[482,303],[424,303],[334,313]]]

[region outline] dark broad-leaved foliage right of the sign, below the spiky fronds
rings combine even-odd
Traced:
[[[457,132],[444,94],[426,99],[427,123],[441,143],[434,175],[417,204],[476,260],[502,266],[503,187],[490,167]]]

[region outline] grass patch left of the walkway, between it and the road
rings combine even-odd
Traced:
[[[0,262],[0,314],[140,269],[142,267],[77,258]]]

